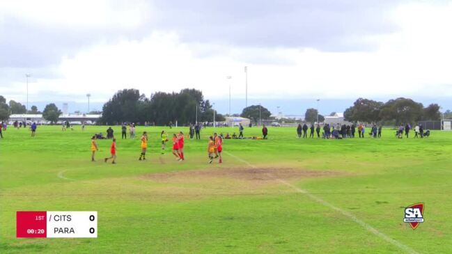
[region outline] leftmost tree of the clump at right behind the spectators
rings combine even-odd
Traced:
[[[383,102],[359,98],[353,106],[345,109],[344,119],[350,122],[378,122],[382,119],[380,116],[382,106]]]

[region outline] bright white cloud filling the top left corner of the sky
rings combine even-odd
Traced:
[[[144,6],[147,15],[143,12]],[[0,14],[49,27],[134,28],[152,15],[148,7],[144,2],[131,5],[125,1],[107,0],[18,0],[1,1]]]

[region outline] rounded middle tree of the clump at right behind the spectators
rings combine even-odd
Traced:
[[[394,120],[396,125],[408,122],[413,124],[420,120],[422,115],[423,105],[421,103],[403,97],[389,100],[380,111],[380,117],[383,120]]]

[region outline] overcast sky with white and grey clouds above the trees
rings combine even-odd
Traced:
[[[452,1],[1,1],[0,95],[116,90],[354,100],[452,95]],[[231,76],[232,79],[226,79]]]

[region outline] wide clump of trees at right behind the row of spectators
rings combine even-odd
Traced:
[[[403,97],[387,102],[359,98],[345,110],[344,119],[350,122],[391,122],[400,125],[419,120],[441,120],[441,113],[438,104],[424,107],[420,102]]]

